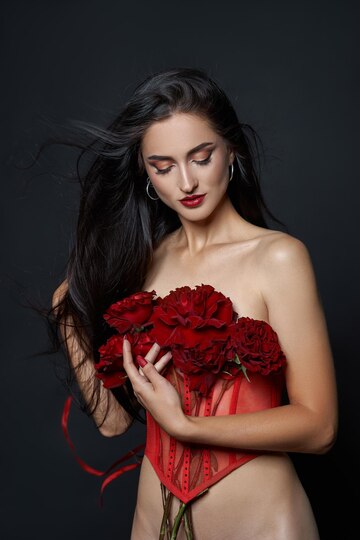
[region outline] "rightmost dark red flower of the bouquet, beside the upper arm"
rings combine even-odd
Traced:
[[[266,322],[240,317],[230,328],[231,343],[241,364],[249,371],[268,375],[286,363],[275,330]]]

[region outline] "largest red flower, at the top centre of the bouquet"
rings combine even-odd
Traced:
[[[226,340],[228,326],[237,318],[232,302],[211,285],[177,287],[158,298],[151,321],[160,345],[183,345],[205,350],[216,340]]]

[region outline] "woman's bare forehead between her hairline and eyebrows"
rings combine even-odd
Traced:
[[[219,135],[204,118],[176,113],[148,127],[141,142],[141,149],[144,154],[180,155],[204,141],[217,142],[219,139]]]

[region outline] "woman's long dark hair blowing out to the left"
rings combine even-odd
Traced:
[[[102,317],[105,309],[142,290],[154,249],[181,225],[177,213],[161,199],[148,197],[147,174],[140,153],[142,137],[149,126],[178,112],[206,119],[235,152],[228,195],[236,211],[250,223],[268,228],[266,211],[284,225],[270,212],[261,193],[259,173],[255,170],[259,136],[248,124],[239,122],[224,91],[203,70],[176,68],[147,77],[105,129],[75,122],[91,141],[72,144],[81,149],[76,168],[81,186],[76,234],[63,276],[67,290],[56,306],[46,309],[45,317],[52,344],[46,353],[59,351],[63,343],[59,329],[64,321],[71,321],[84,351],[77,369],[87,358],[99,360],[98,348],[109,337],[109,327]],[[40,147],[35,159],[47,144]],[[81,174],[80,160],[89,152],[95,157],[87,172]],[[76,373],[68,361],[66,364],[66,385],[75,395],[72,386],[75,382],[78,390]],[[77,401],[88,415],[98,405],[100,384],[93,377],[90,401],[85,402],[79,394]],[[145,423],[128,379],[111,392],[132,420]]]

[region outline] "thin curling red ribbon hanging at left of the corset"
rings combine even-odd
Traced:
[[[122,461],[125,461],[126,459],[129,459],[132,456],[135,456],[135,458],[138,459],[138,457],[136,456],[136,453],[139,452],[139,450],[141,450],[142,448],[145,448],[145,444],[139,444],[138,446],[135,446],[132,450],[129,450],[129,452],[127,452],[124,456],[114,461],[114,463],[112,463],[110,467],[106,469],[106,471],[99,471],[98,469],[94,469],[93,467],[85,463],[85,461],[81,459],[81,457],[79,457],[78,454],[76,453],[74,443],[72,442],[69,435],[68,422],[69,422],[71,402],[72,402],[72,396],[69,396],[65,401],[65,405],[64,405],[64,409],[63,409],[63,413],[61,417],[61,427],[64,432],[65,439],[67,440],[71,450],[73,451],[75,455],[76,461],[84,469],[84,471],[88,472],[89,474],[94,474],[95,476],[104,476],[108,474],[114,467],[116,467],[116,465],[118,465]],[[106,486],[108,486],[110,482],[115,480],[115,478],[122,475],[123,473],[127,471],[131,471],[132,469],[136,469],[136,467],[139,467],[139,465],[141,465],[141,462],[142,462],[142,457],[143,456],[141,456],[141,459],[140,461],[138,461],[138,463],[130,463],[129,465],[124,465],[119,470],[113,472],[107,478],[105,478],[105,480],[101,484],[101,489],[100,489],[100,498],[99,498],[100,507],[103,506],[102,495]]]

